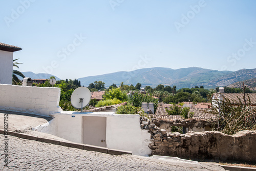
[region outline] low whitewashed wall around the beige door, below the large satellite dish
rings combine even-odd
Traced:
[[[69,141],[83,143],[83,116],[106,117],[106,148],[132,151],[134,155],[151,154],[148,144],[151,134],[140,129],[139,115],[118,115],[113,112],[71,112],[55,113],[50,129],[38,129],[40,132],[55,132],[56,136]],[[74,116],[74,117],[72,117]],[[94,129],[98,129],[95,127]]]

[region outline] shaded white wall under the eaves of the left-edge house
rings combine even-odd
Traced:
[[[12,84],[13,52],[0,50],[0,84]]]

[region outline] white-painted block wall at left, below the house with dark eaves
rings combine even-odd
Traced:
[[[0,109],[41,115],[60,112],[60,88],[0,84]]]

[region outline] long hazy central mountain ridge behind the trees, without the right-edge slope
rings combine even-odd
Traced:
[[[170,86],[176,85],[177,88],[201,85],[206,86],[205,88],[215,88],[215,84],[210,85],[208,82],[230,74],[231,72],[232,71],[218,71],[199,67],[180,69],[155,67],[130,72],[120,71],[100,76],[84,77],[78,80],[81,81],[81,85],[84,86],[88,86],[95,81],[103,81],[105,86],[110,86],[113,83],[120,85],[120,83],[123,82],[129,85],[141,83],[143,86],[150,85],[152,87],[163,84]]]

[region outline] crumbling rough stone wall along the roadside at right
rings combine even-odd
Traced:
[[[256,131],[226,135],[217,131],[172,133],[141,117],[141,128],[152,134],[152,155],[185,159],[237,160],[256,163]]]

